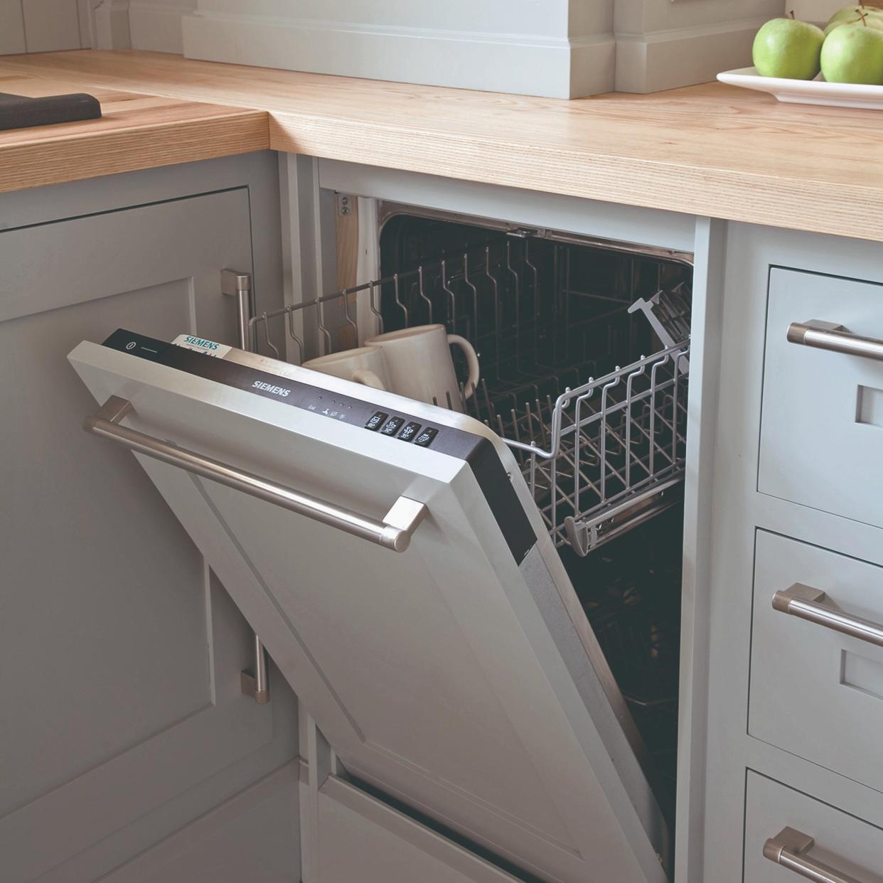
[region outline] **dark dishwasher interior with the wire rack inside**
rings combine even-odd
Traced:
[[[442,323],[473,344],[482,376],[460,408],[512,449],[672,819],[691,255],[389,203],[379,215],[377,278],[255,316],[253,342],[300,362]]]

